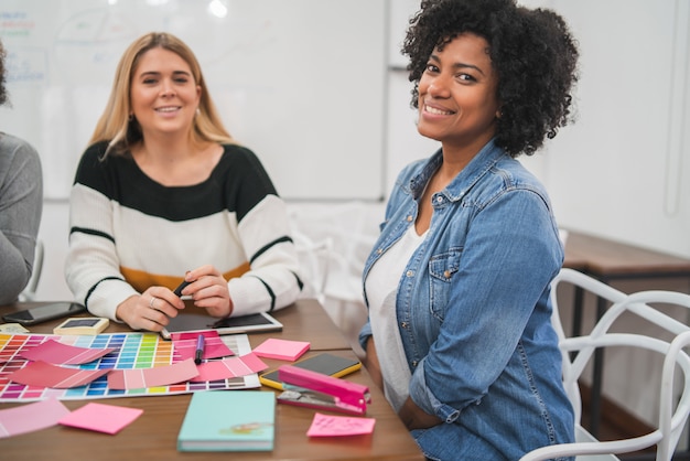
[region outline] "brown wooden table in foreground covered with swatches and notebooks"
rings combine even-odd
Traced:
[[[35,303],[34,303],[35,304]],[[0,314],[25,309],[30,303],[0,307]],[[250,334],[252,347],[267,337],[310,341],[312,350],[305,355],[328,352],[356,358],[347,340],[315,300],[300,300],[294,305],[274,312],[283,323],[282,332]],[[32,328],[32,333],[51,333],[60,321]],[[112,324],[106,333],[128,331]],[[285,362],[266,360],[271,368]],[[289,405],[277,405],[276,444],[271,452],[179,452],[177,432],[186,412],[191,395],[157,397],[123,397],[95,400],[65,400],[74,410],[87,401],[99,401],[143,409],[143,414],[116,436],[54,426],[36,432],[0,439],[0,453],[7,460],[423,460],[414,440],[398,416],[374,385],[365,368],[347,376],[348,380],[365,384],[371,393],[367,417],[376,419],[374,433],[363,437],[310,439],[306,429],[315,410]],[[272,390],[262,387],[266,392]],[[241,392],[241,390],[236,390]],[[0,409],[22,404],[0,404]],[[327,411],[324,411],[327,412]],[[337,414],[333,414],[337,415]]]

